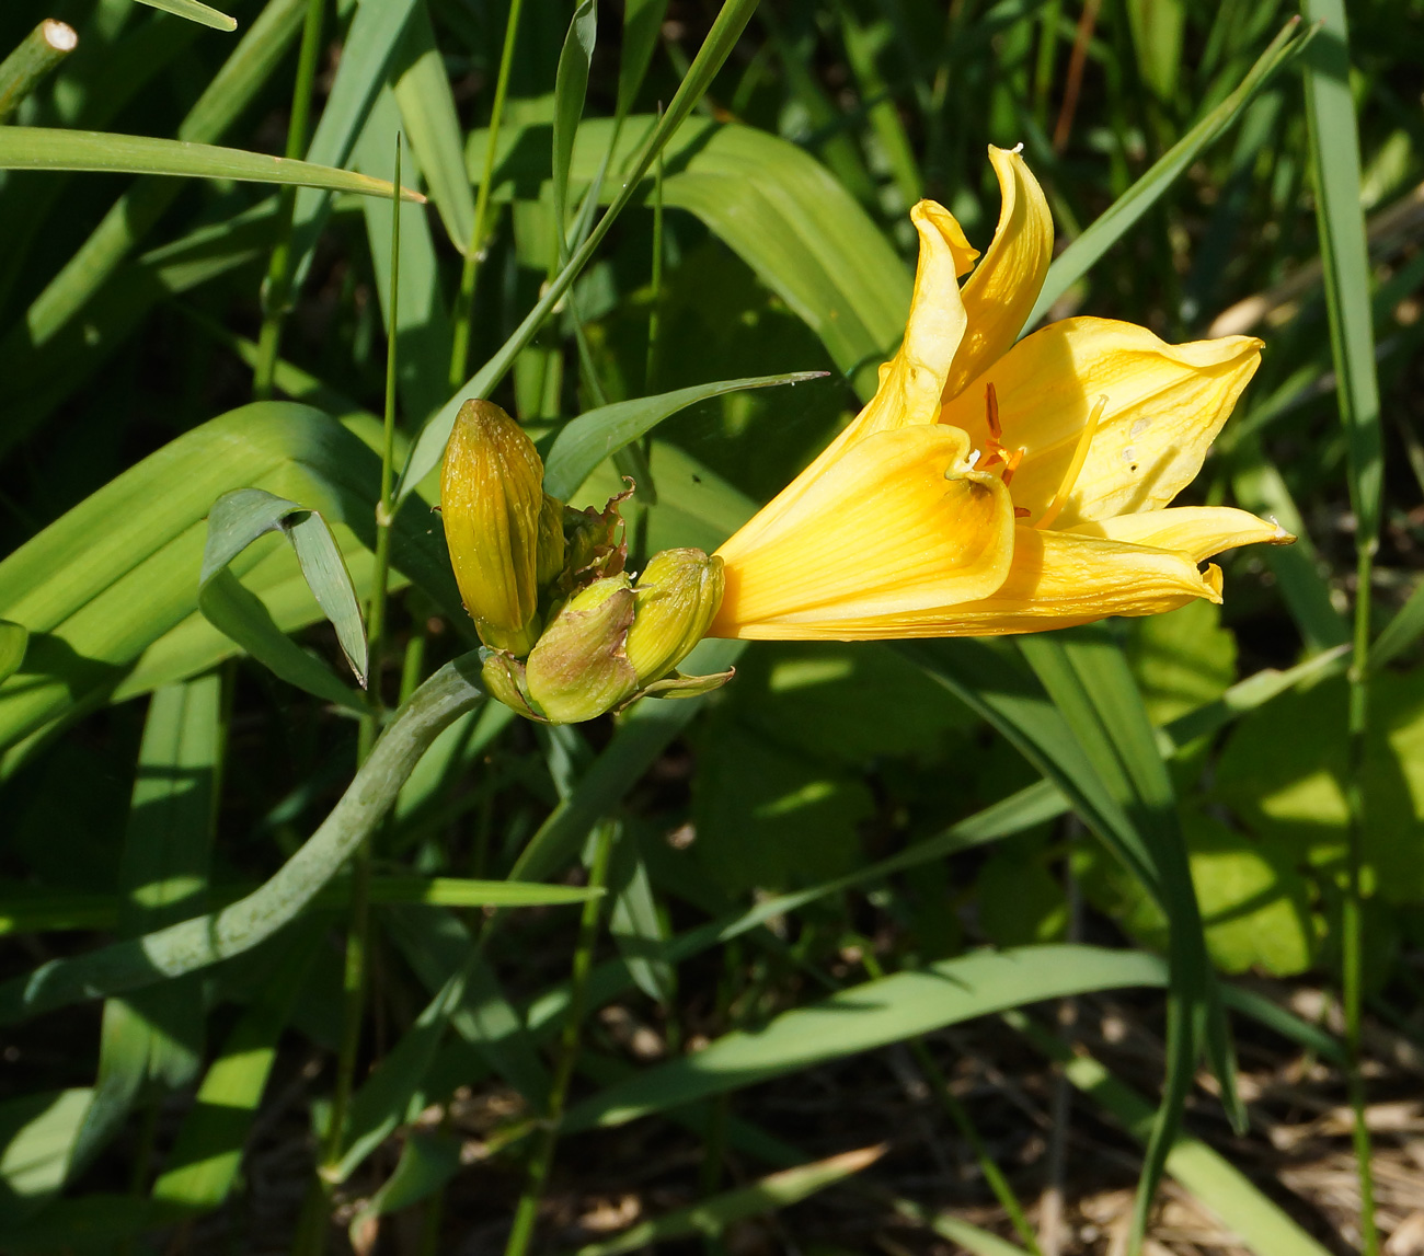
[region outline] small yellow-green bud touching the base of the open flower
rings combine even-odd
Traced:
[[[668,675],[706,632],[722,605],[722,560],[701,550],[664,550],[638,577],[625,651],[649,685]]]

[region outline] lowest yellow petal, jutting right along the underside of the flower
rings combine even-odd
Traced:
[[[951,607],[938,622],[886,621],[883,637],[990,637],[1071,628],[1106,615],[1156,615],[1193,598],[1219,602],[1220,572],[1185,554],[1074,533],[1014,530],[1014,561],[998,590]]]

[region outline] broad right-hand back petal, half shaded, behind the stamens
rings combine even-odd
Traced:
[[[1146,328],[1065,319],[1020,340],[951,400],[941,420],[985,447],[984,389],[998,397],[1004,446],[1027,450],[1014,500],[1040,516],[1058,491],[1099,396],[1108,399],[1057,527],[1166,506],[1200,470],[1260,363],[1260,340],[1166,345]]]

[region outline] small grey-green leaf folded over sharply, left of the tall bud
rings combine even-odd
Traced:
[[[365,712],[366,703],[285,637],[262,600],[244,590],[228,570],[238,554],[266,533],[281,533],[290,541],[312,595],[336,629],[346,662],[357,682],[366,685],[366,625],[360,602],[336,538],[315,510],[262,488],[236,488],[219,497],[208,516],[208,538],[198,575],[198,608],[283,681],[318,698]]]

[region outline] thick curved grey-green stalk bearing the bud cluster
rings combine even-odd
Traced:
[[[221,911],[51,960],[0,984],[0,1024],[205,968],[251,950],[296,919],[384,819],[436,736],[484,701],[473,679],[477,672],[478,658],[461,655],[426,681],[396,713],[318,830],[259,889]]]

